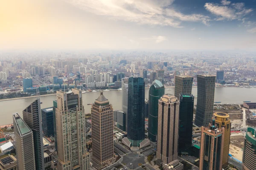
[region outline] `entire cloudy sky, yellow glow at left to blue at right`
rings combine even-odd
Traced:
[[[256,0],[1,0],[0,50],[256,51]]]

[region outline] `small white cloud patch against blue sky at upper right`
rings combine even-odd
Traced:
[[[212,14],[215,14],[217,18],[215,20],[242,20],[243,17],[247,14],[249,14],[253,9],[251,8],[245,8],[244,3],[232,3],[231,6],[227,4],[226,0],[222,0],[222,5],[214,4],[214,3],[206,3],[204,7],[207,11],[211,12]]]

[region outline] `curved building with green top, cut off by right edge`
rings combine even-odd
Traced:
[[[243,170],[256,169],[256,129],[248,127],[244,136],[244,149],[243,149]]]

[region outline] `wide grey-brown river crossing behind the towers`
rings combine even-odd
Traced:
[[[148,88],[145,89],[145,99],[148,99]],[[166,94],[174,94],[174,88],[166,88]],[[90,113],[91,104],[98,98],[100,92],[87,92],[82,94],[85,113]],[[114,110],[122,109],[122,91],[104,91],[104,96],[113,105]],[[197,88],[192,88],[192,94],[197,95]],[[56,95],[41,96],[41,108],[53,106],[53,100]],[[33,102],[35,98],[24,98],[16,100],[0,101],[0,125],[13,123],[12,113],[19,113],[22,116],[22,111]],[[196,104],[197,98],[195,98]],[[237,88],[237,87],[217,87],[215,88],[215,102],[222,104],[241,104],[242,101],[256,102],[256,88]]]

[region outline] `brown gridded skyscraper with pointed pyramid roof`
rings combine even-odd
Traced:
[[[105,164],[113,159],[113,108],[100,92],[91,108],[93,160]]]

